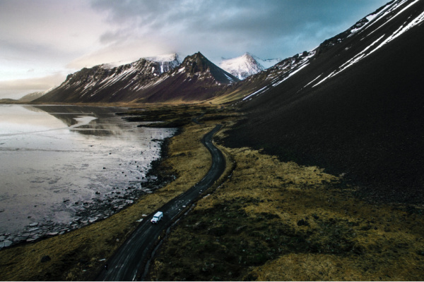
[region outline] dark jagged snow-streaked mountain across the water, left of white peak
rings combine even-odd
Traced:
[[[222,84],[238,81],[202,54],[174,61],[140,59],[116,68],[103,65],[68,75],[35,102],[199,102]]]

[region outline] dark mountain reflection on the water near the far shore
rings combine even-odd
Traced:
[[[73,128],[74,131],[83,135],[122,135],[125,130],[124,123],[110,122],[111,118],[116,118],[115,113],[124,111],[123,108],[69,105],[41,105],[30,106],[30,108],[33,108],[30,109],[31,111],[44,111],[68,126],[76,125],[78,121],[75,118],[80,116],[94,116],[97,118],[86,125]]]

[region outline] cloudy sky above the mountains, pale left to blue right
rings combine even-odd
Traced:
[[[0,0],[0,99],[101,63],[310,51],[389,0]]]

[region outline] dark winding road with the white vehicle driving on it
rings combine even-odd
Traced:
[[[150,222],[151,216],[148,217],[148,220],[141,222],[131,237],[107,261],[108,269],[103,269],[100,272],[97,278],[98,281],[135,281],[141,277],[160,234],[171,226],[175,217],[182,212],[184,207],[192,204],[225,171],[223,153],[212,143],[213,135],[221,127],[222,125],[216,125],[201,140],[212,155],[212,165],[206,176],[192,188],[182,193],[182,195],[175,197],[163,207],[160,207],[158,211],[163,212],[163,219],[158,224]]]

